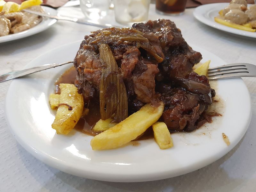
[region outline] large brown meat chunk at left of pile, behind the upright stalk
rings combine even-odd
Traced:
[[[159,72],[157,63],[164,58],[158,36],[154,33],[144,34],[133,28],[106,28],[85,36],[74,65],[78,72],[77,86],[83,89],[86,87],[83,91],[86,100],[99,97],[101,70],[105,66],[99,55],[98,45],[101,43],[110,46],[121,68],[128,98],[137,97],[142,102],[150,102],[155,94],[155,75]],[[146,52],[146,58],[140,56],[141,51],[143,54]],[[140,65],[136,68],[138,63]],[[143,73],[136,73],[142,68],[145,68]]]

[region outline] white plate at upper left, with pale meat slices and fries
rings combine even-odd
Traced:
[[[45,13],[51,14],[51,15],[57,15],[57,11],[55,9],[52,9],[50,7],[42,6],[44,8]],[[8,42],[8,41],[13,41],[16,39],[21,39],[27,36],[34,35],[36,33],[42,32],[49,28],[51,25],[56,23],[56,19],[50,19],[50,18],[43,18],[43,20],[36,25],[35,27],[32,27],[28,30],[21,31],[20,33],[15,33],[11,35],[6,35],[6,36],[1,36],[0,37],[0,43]]]

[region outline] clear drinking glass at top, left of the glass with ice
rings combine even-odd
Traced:
[[[80,0],[80,7],[86,17],[99,20],[107,15],[110,0]]]

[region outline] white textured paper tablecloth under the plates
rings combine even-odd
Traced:
[[[79,7],[63,7],[63,15],[79,15]],[[256,39],[230,35],[193,18],[194,9],[179,17],[161,16],[150,6],[149,19],[173,20],[188,43],[196,44],[227,63],[256,65]],[[0,44],[0,74],[22,69],[28,62],[61,44],[83,39],[97,28],[58,21],[51,28],[24,39]],[[244,78],[252,98],[252,121],[243,139],[227,155],[197,171],[175,178],[114,183],[76,177],[31,156],[13,138],[4,117],[4,100],[11,82],[0,84],[0,192],[12,191],[256,191],[256,78]],[[18,96],[17,96],[18,97]],[[242,111],[241,111],[242,113]],[[15,121],[15,119],[13,119]],[[239,119],[234,119],[239,121]]]

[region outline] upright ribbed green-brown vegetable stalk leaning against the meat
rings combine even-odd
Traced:
[[[99,44],[102,68],[100,79],[100,116],[102,120],[113,118],[120,122],[128,116],[128,100],[125,85],[115,57],[107,44]]]

